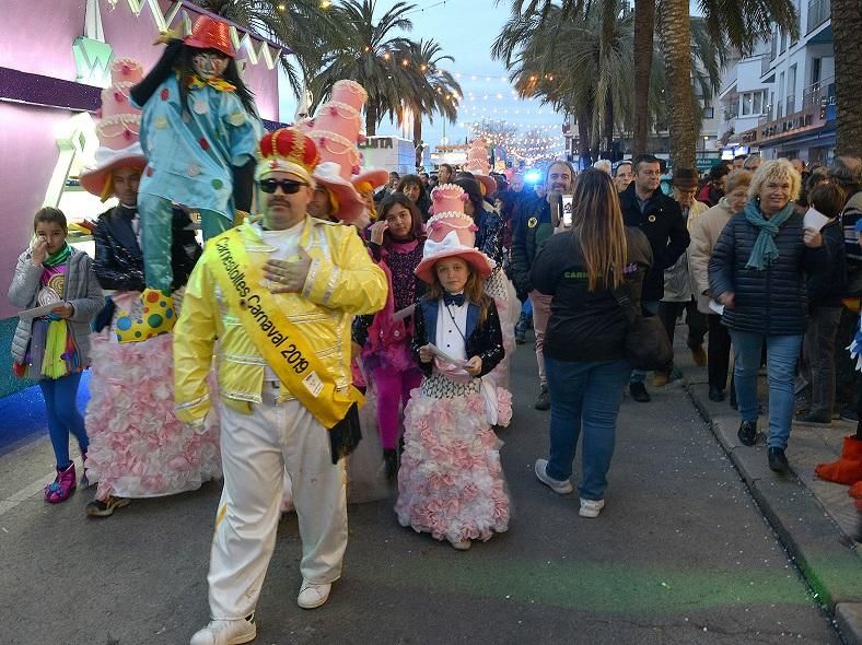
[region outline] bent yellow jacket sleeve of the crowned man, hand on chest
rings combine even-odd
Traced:
[[[373,314],[386,304],[386,277],[371,259],[352,226],[334,226],[335,262],[312,256],[302,295],[311,302],[347,314]]]

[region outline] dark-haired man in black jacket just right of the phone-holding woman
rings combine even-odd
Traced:
[[[661,163],[651,154],[634,159],[634,180],[619,195],[622,219],[627,226],[643,231],[652,247],[653,265],[643,279],[641,305],[651,314],[659,310],[664,295],[664,270],[673,267],[690,242],[683,211],[673,198],[664,195]],[[631,373],[629,391],[641,403],[650,401],[643,382],[646,374],[640,370]]]

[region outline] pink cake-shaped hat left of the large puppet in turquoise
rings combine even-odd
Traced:
[[[129,58],[110,66],[110,86],[102,90],[102,120],[96,126],[98,150],[95,166],[81,173],[81,186],[88,192],[107,200],[113,195],[110,173],[117,168],[143,171],[147,157],[138,141],[140,110],[132,107],[129,91],[143,78],[141,63]]]

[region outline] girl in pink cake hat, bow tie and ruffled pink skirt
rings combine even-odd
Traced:
[[[429,293],[413,313],[413,360],[422,371],[405,411],[398,471],[398,521],[455,549],[509,527],[500,442],[491,431],[511,401],[488,392],[482,377],[504,354],[500,318],[484,292],[493,262],[474,248],[464,191],[435,188],[422,261]]]

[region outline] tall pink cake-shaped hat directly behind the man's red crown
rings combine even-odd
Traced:
[[[314,140],[321,154],[314,178],[333,196],[335,216],[348,224],[359,222],[365,212],[365,202],[357,191],[353,175],[360,172],[357,141],[366,99],[368,94],[359,83],[338,81],[317,116],[298,124]]]

